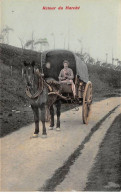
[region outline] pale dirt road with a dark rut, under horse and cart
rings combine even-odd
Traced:
[[[48,131],[47,139],[30,139],[34,124],[1,138],[1,190],[84,190],[107,129],[121,112],[120,104],[121,98],[94,103],[88,126],[82,123],[81,108],[62,113],[61,131]]]

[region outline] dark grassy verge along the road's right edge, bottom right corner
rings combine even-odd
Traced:
[[[121,114],[107,131],[85,191],[121,191]]]

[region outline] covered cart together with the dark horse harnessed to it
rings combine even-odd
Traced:
[[[69,62],[70,69],[65,68],[67,63],[64,63],[65,69],[63,71],[66,70],[66,76],[63,82],[60,80],[60,78],[63,79],[60,77],[60,71],[63,69],[65,60]],[[67,73],[70,74],[67,70],[72,73],[71,77],[67,77]],[[43,52],[41,54],[41,68],[36,67],[35,61],[31,63],[24,61],[24,78],[26,94],[34,113],[35,131],[32,137],[38,137],[39,134],[39,110],[41,112],[42,137],[47,137],[45,126],[47,110],[50,112],[49,129],[53,130],[55,125],[53,104],[57,108],[56,130],[60,130],[61,100],[83,105],[83,123],[88,124],[92,103],[92,83],[88,78],[86,64],[76,54],[67,50]]]

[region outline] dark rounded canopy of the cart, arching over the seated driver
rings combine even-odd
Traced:
[[[69,68],[73,70],[74,76],[79,75],[80,79],[87,83],[89,81],[86,64],[73,52],[68,50],[51,50],[42,53],[42,68],[45,78],[58,80],[60,71],[63,69],[63,61],[69,61]],[[50,67],[47,66],[49,62]]]

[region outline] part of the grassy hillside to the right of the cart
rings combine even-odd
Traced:
[[[87,67],[94,98],[121,96],[121,71],[96,65]]]

